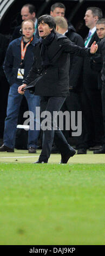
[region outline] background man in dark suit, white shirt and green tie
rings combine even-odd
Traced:
[[[85,47],[95,40],[99,41],[96,34],[96,21],[102,18],[102,10],[97,7],[88,7],[84,20],[89,28],[89,34],[84,42]],[[87,133],[84,131],[83,148],[78,149],[77,154],[86,154],[87,149],[94,150],[102,144],[103,120],[101,93],[98,89],[97,73],[90,68],[90,59],[84,58],[83,63],[83,94],[82,108],[87,127]],[[94,148],[93,148],[94,147]]]

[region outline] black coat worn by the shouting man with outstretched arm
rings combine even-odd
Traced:
[[[41,43],[35,45],[35,60],[28,76],[23,83],[31,83],[35,87],[35,94],[41,96],[69,95],[70,54],[75,56],[91,56],[89,48],[82,48],[71,42],[67,36],[56,33],[51,44],[48,45],[50,65],[43,68],[40,57]],[[30,87],[27,86],[27,89]]]

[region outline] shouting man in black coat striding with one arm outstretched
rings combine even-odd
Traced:
[[[57,112],[60,111],[65,98],[69,95],[69,53],[86,57],[97,51],[95,42],[91,48],[81,48],[66,36],[56,34],[55,28],[55,20],[51,16],[43,15],[38,18],[40,42],[34,49],[34,64],[24,84],[18,88],[18,93],[23,94],[24,89],[35,87],[35,94],[41,96],[41,111],[44,111],[44,114],[50,114],[47,129],[43,129],[42,124],[43,148],[35,163],[48,162],[53,140],[61,153],[60,163],[67,163],[69,158],[76,153],[66,141],[61,130],[53,128],[56,128]],[[53,120],[54,113],[56,115]]]

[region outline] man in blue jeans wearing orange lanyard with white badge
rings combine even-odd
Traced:
[[[18,86],[22,84],[34,62],[33,49],[38,39],[34,35],[35,25],[32,20],[22,22],[22,36],[10,42],[4,60],[5,76],[10,84],[8,95],[7,117],[5,119],[3,145],[0,151],[14,152],[17,119],[23,95],[18,94]],[[24,94],[29,111],[34,113],[34,130],[28,133],[28,151],[36,153],[39,131],[35,130],[35,107],[40,106],[40,96],[27,90]]]

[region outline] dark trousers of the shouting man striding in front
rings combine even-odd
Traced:
[[[42,151],[39,160],[47,162],[51,149],[52,143],[56,144],[56,147],[60,150],[61,155],[66,155],[70,151],[70,145],[68,144],[67,140],[65,139],[63,133],[59,128],[56,126],[57,130],[54,130],[53,127],[56,125],[55,119],[53,120],[53,113],[54,111],[60,111],[63,103],[65,101],[65,97],[59,96],[43,96],[41,97],[41,114],[43,111],[48,111],[50,113],[49,118],[51,117],[51,126],[50,120],[47,122],[47,129],[43,131],[43,145]],[[48,113],[46,112],[47,117]],[[44,119],[43,119],[44,121]],[[43,129],[43,124],[41,123],[41,127]]]

